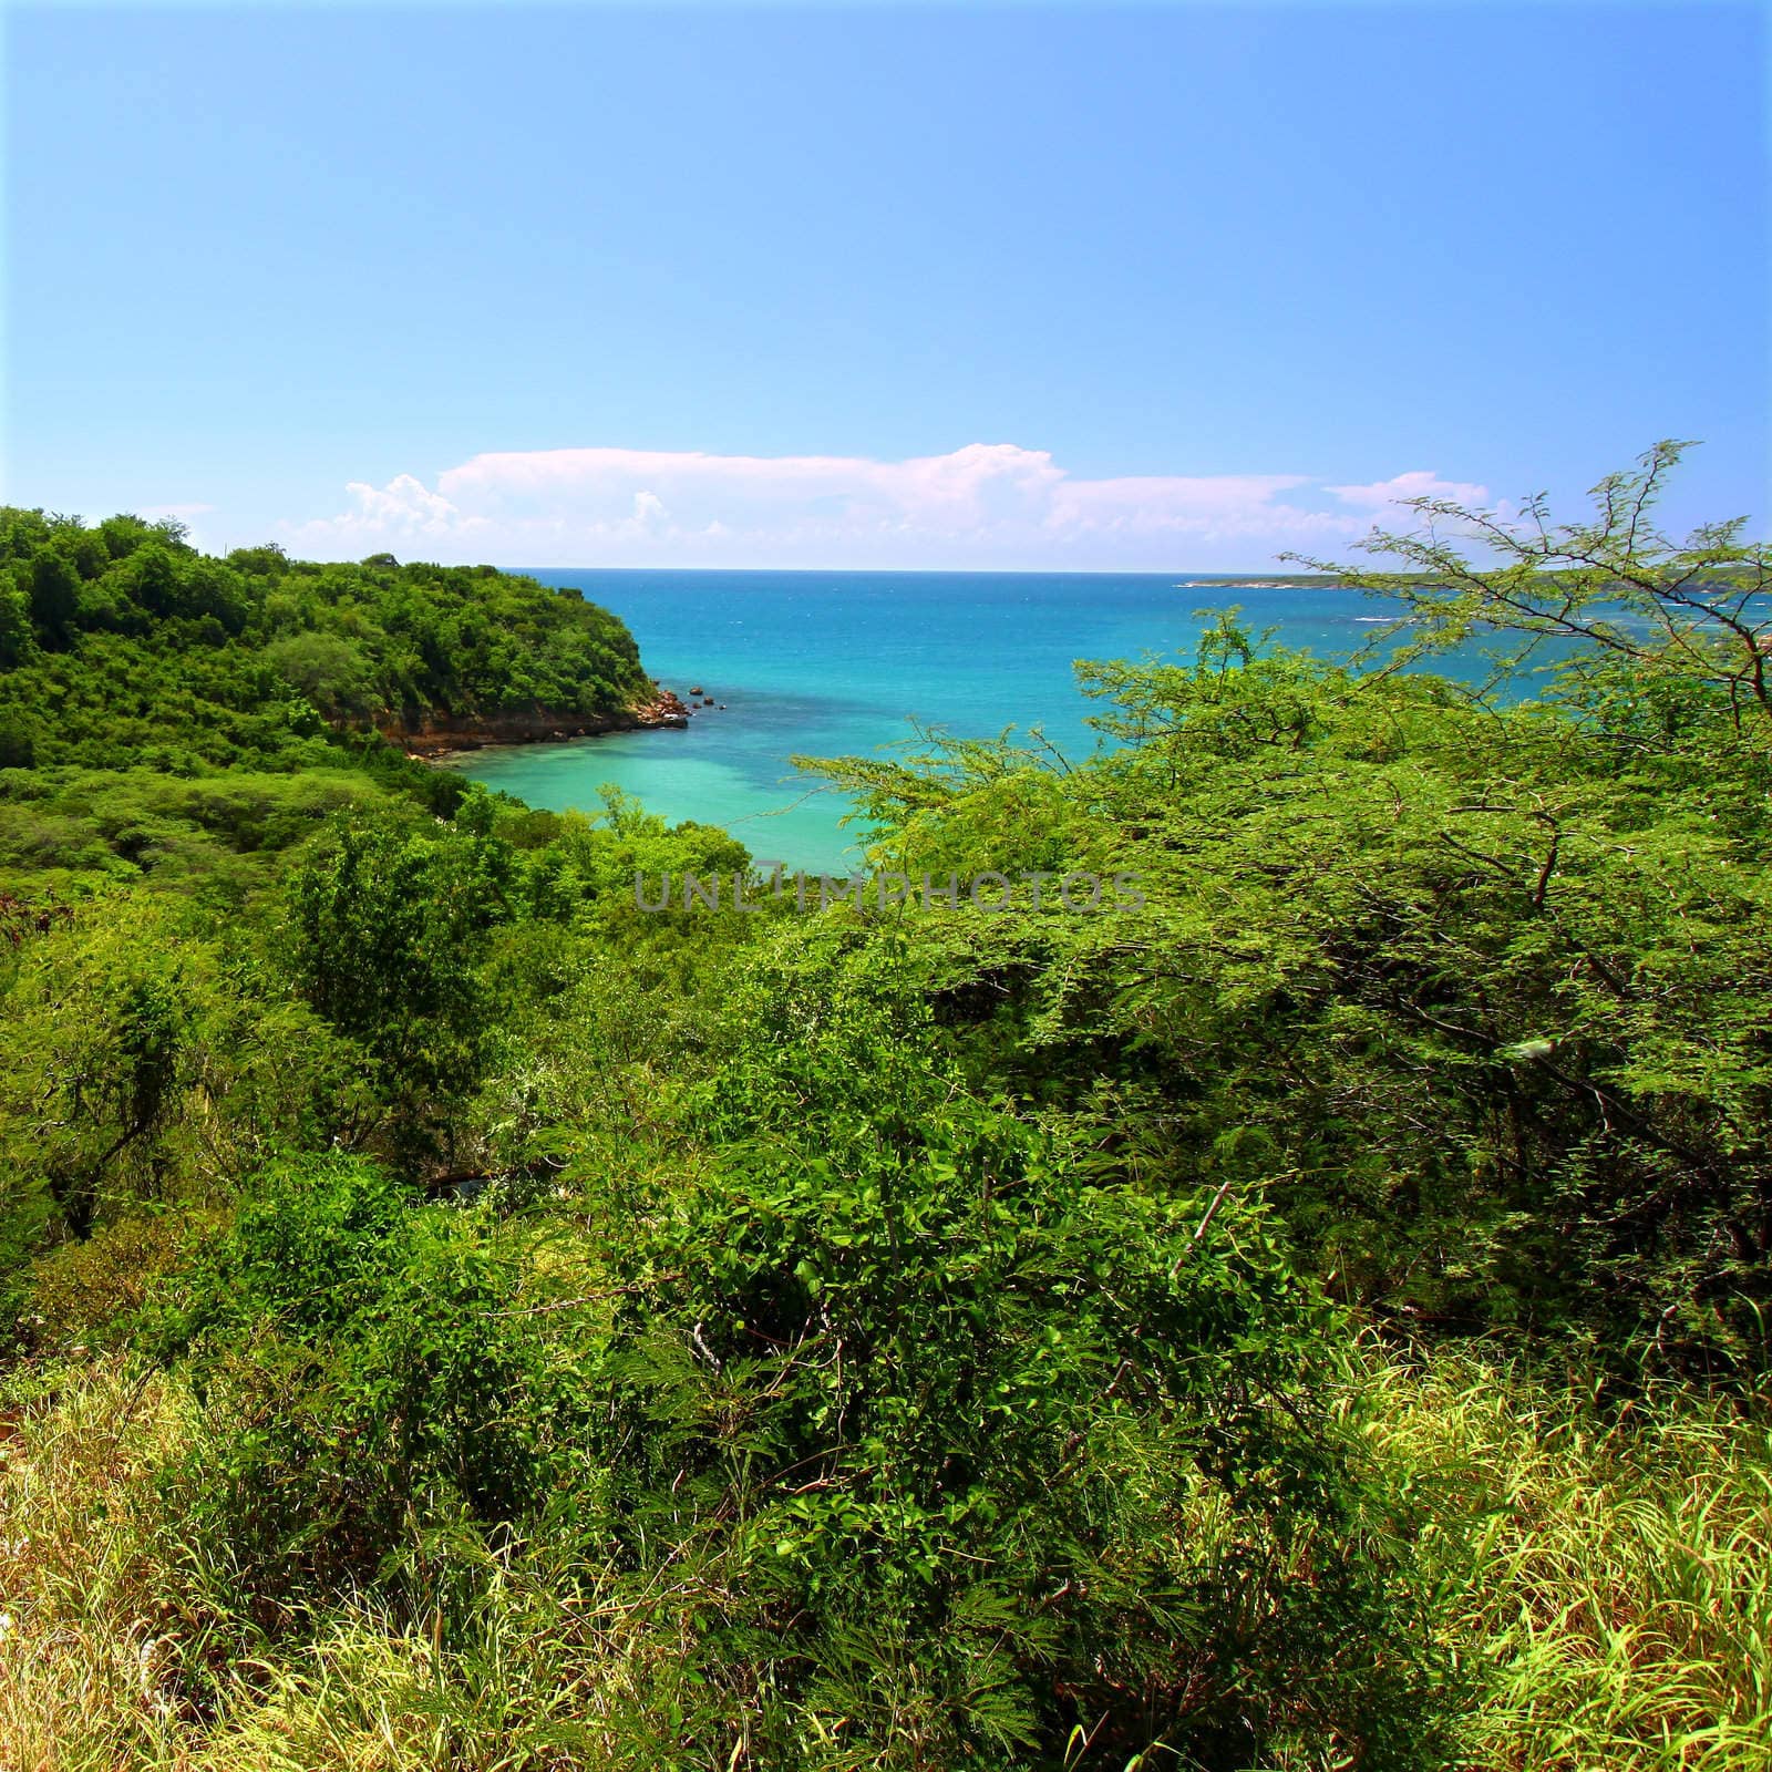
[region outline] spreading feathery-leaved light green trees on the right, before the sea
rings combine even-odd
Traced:
[[[1370,1308],[1761,1370],[1772,776],[1729,709],[1621,758],[1559,702],[1354,675],[1233,622],[1193,666],[1084,688],[1118,744],[1074,769],[831,766],[905,872],[1141,875],[1111,916],[937,920],[929,976],[957,1005],[989,987],[978,1072],[1132,1092],[1154,1161],[1260,1139]]]

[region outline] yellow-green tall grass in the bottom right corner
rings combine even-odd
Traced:
[[[1476,1659],[1480,1767],[1772,1767],[1772,1425],[1664,1393],[1437,1357],[1373,1368],[1379,1437],[1441,1496],[1423,1542],[1442,1628]]]

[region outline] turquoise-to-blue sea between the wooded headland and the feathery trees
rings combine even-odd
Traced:
[[[620,615],[647,670],[723,707],[688,732],[627,732],[477,751],[461,767],[533,806],[595,812],[613,783],[670,822],[723,824],[758,859],[842,870],[859,859],[849,803],[794,755],[872,755],[913,721],[962,737],[1042,727],[1086,755],[1092,703],[1076,659],[1193,657],[1203,608],[1239,604],[1255,629],[1347,656],[1384,604],[1329,587],[1253,588],[1191,572],[670,572],[533,571]]]

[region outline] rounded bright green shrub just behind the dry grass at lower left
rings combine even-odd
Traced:
[[[186,1348],[211,1513],[255,1593],[365,1579],[415,1519],[546,1492],[553,1380],[512,1251],[372,1166],[271,1168],[154,1336]]]

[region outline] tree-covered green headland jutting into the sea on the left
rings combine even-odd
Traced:
[[[395,732],[441,712],[611,714],[645,700],[633,636],[576,590],[491,567],[227,560],[177,525],[0,509],[0,728],[39,764],[301,769],[328,719]],[[27,735],[30,744],[27,744]]]

